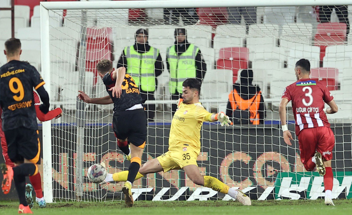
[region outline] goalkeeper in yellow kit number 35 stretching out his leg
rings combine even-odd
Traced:
[[[195,78],[188,78],[182,83],[182,99],[178,101],[178,109],[171,123],[169,151],[143,164],[135,180],[150,173],[183,169],[194,184],[228,194],[243,205],[250,206],[250,198],[240,190],[229,188],[218,179],[199,173],[196,160],[200,152],[200,128],[203,122],[219,121],[221,126],[231,123],[223,112],[207,112],[199,102],[199,93],[200,83]],[[102,184],[124,182],[127,176],[128,171],[108,173]]]

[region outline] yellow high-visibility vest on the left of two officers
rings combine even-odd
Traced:
[[[155,83],[155,61],[159,55],[159,49],[151,47],[146,53],[138,53],[133,45],[124,49],[127,59],[127,72],[130,74],[137,86],[141,86],[141,90],[146,92],[154,92],[156,90]]]

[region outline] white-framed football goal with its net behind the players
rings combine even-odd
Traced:
[[[323,177],[304,169],[297,138],[292,146],[284,143],[278,114],[285,87],[296,81],[295,63],[309,59],[312,78],[328,86],[340,108],[328,116],[336,135],[335,149],[329,152],[334,157],[333,198],[351,198],[352,42],[346,23],[351,6],[313,5],[327,0],[299,1],[302,5],[290,0],[286,6],[254,0],[247,5],[184,2],[186,8],[176,9],[181,4],[176,0],[41,2],[41,74],[52,107],[64,113],[43,123],[46,201],[123,198],[123,183],[100,186],[86,178],[94,163],[105,162],[109,173],[127,170],[130,164],[111,127],[113,105],[86,104],[77,98],[79,90],[91,98],[108,95],[95,68],[101,59],[111,60],[115,68],[130,66],[127,73],[141,84],[143,78],[152,80],[141,85],[148,92],[149,114],[142,163],[168,150],[173,104],[180,95],[173,83],[197,77],[202,81],[200,102],[209,112],[232,115],[228,101],[238,96],[233,89],[241,92],[242,100],[253,99],[257,110],[257,120],[247,122],[244,118],[253,117],[252,111],[241,111],[241,119],[233,114],[233,121],[242,120],[242,125],[203,124],[200,173],[254,200],[314,200],[324,197]],[[148,43],[136,44],[140,28],[148,32]],[[182,33],[187,43],[180,38],[176,44],[175,35]],[[294,132],[291,104],[287,113]],[[193,184],[182,170],[149,174],[134,182],[133,192],[136,200],[231,199]]]

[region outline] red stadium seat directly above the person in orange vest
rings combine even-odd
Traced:
[[[237,80],[237,72],[248,68],[248,48],[227,47],[221,48],[219,59],[216,61],[217,69],[231,69],[233,72],[233,83]]]

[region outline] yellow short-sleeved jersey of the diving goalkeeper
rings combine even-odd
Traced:
[[[200,102],[178,106],[171,123],[169,151],[188,146],[199,154],[200,128],[205,121],[210,121],[211,113],[206,111]]]

